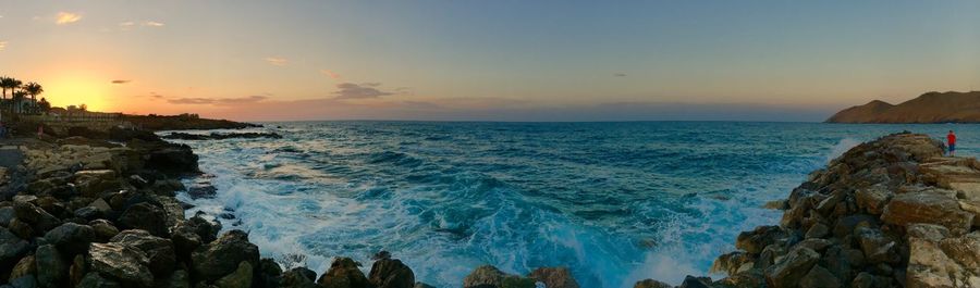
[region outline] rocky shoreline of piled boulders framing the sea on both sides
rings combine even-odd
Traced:
[[[219,235],[219,223],[184,215],[177,192],[213,195],[181,183],[200,173],[189,147],[148,132],[106,135],[27,142],[23,165],[2,171],[0,287],[431,287],[384,251],[367,274],[348,258],[319,277],[283,271],[291,265],[262,259],[247,233]],[[980,287],[980,163],[942,153],[915,134],[852,149],[777,204],[777,226],[738,236],[739,251],[712,267],[727,277],[679,287]],[[480,266],[461,285],[579,287],[563,267],[520,276]]]

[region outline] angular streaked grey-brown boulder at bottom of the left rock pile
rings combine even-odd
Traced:
[[[150,287],[154,283],[149,260],[143,251],[126,245],[91,243],[88,262],[93,271],[120,279],[127,287]]]

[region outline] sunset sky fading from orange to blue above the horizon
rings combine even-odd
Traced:
[[[8,1],[54,105],[238,121],[823,121],[980,90],[980,1]]]

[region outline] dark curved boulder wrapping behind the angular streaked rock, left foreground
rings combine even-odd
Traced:
[[[143,251],[149,260],[147,266],[157,276],[167,276],[176,264],[173,242],[152,236],[146,230],[124,230],[112,237],[110,242],[127,245]]]

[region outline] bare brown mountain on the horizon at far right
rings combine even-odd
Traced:
[[[852,107],[828,123],[980,123],[980,91],[928,92],[893,105],[874,100]]]

